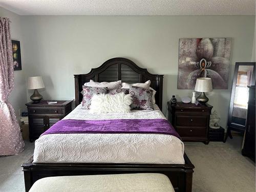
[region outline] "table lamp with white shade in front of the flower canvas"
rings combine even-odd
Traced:
[[[197,101],[201,104],[208,102],[208,97],[205,96],[205,92],[211,92],[212,91],[212,83],[211,78],[207,77],[200,77],[197,78],[195,91],[201,92],[201,94],[197,97]]]

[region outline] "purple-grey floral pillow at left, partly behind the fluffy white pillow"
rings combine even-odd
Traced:
[[[106,94],[108,91],[108,88],[96,88],[96,87],[87,87],[83,86],[83,97],[82,97],[82,109],[89,110],[91,105],[91,99],[93,95],[96,94]]]

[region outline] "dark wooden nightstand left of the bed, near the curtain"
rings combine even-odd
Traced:
[[[46,100],[39,103],[26,103],[29,117],[29,140],[32,142],[48,130],[54,123],[72,111],[72,100],[54,100],[55,104],[48,104]]]

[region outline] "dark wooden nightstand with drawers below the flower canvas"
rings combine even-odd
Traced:
[[[168,120],[175,127],[182,141],[209,143],[208,130],[212,106],[209,104],[167,103]]]

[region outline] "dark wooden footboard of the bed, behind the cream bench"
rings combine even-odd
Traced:
[[[32,163],[32,156],[22,167],[26,191],[29,191],[35,181],[44,177],[161,173],[170,179],[176,192],[191,192],[195,166],[186,154],[184,159],[185,164]]]

